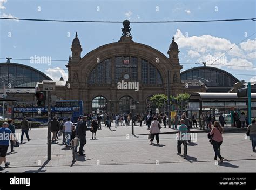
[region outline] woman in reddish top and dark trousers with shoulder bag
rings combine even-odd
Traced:
[[[217,157],[220,158],[220,163],[223,162],[223,157],[220,155],[220,145],[223,142],[223,128],[220,126],[220,123],[218,121],[215,121],[212,127],[212,131],[210,132],[210,135],[213,136],[212,139],[212,145],[213,150],[215,152],[214,160],[217,160]]]

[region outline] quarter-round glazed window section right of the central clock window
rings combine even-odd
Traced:
[[[162,85],[163,80],[156,66],[142,59],[142,84],[143,85]]]

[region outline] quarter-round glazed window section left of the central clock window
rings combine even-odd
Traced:
[[[99,63],[90,73],[89,84],[111,84],[111,59]]]

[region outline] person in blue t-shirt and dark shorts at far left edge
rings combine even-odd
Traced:
[[[0,137],[3,137],[0,138],[0,171],[3,170],[3,168],[1,167],[2,162],[4,162],[5,168],[10,165],[10,162],[6,161],[6,154],[9,147],[9,141],[14,141],[14,137],[11,133],[11,130],[9,130],[8,126],[9,124],[7,122],[4,122],[2,127],[0,128]]]

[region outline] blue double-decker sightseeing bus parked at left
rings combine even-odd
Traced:
[[[31,121],[46,123],[48,121],[48,106],[38,107],[36,102],[17,102],[12,109],[14,119],[21,120],[24,116]],[[61,100],[56,101],[56,105],[51,106],[51,118],[57,116],[58,119],[71,118],[77,121],[83,115],[82,100]]]

